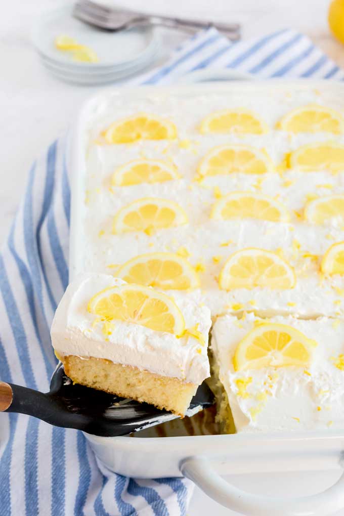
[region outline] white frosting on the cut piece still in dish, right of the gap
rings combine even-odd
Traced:
[[[219,317],[212,329],[211,348],[220,366],[220,381],[228,395],[237,431],[342,428],[344,371],[335,367],[334,362],[344,353],[344,321],[272,317],[272,322],[290,325],[318,343],[312,364],[306,369],[309,375],[300,367],[235,372],[236,347],[253,329],[255,320],[253,314],[244,320],[226,315]],[[249,379],[241,394],[238,379]]]

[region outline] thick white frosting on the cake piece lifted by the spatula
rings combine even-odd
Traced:
[[[52,344],[62,356],[95,357],[130,365],[162,376],[200,384],[209,376],[207,344],[192,336],[177,338],[171,333],[114,320],[111,334],[104,332],[104,322],[87,311],[89,300],[102,289],[124,283],[103,274],[79,275],[67,288],[58,305],[51,329]],[[208,342],[210,312],[176,294],[185,327],[198,324]]]

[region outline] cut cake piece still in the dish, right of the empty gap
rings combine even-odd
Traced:
[[[219,317],[211,350],[224,432],[342,428],[344,320]]]

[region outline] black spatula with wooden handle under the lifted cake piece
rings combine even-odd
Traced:
[[[212,404],[214,395],[203,382],[191,400],[187,415]],[[28,414],[51,425],[105,437],[124,436],[176,417],[147,403],[73,384],[64,374],[62,364],[55,369],[48,393],[0,382],[0,412]]]

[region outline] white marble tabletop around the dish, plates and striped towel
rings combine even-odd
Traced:
[[[124,3],[124,0],[122,0]],[[30,44],[30,27],[39,13],[54,7],[56,0],[11,0],[2,3],[0,17],[0,241],[8,232],[24,190],[29,167],[48,143],[73,123],[79,106],[95,87],[77,87],[59,82],[41,66]],[[142,0],[127,0],[127,6],[142,9]],[[211,10],[209,8],[211,5]],[[292,26],[303,30],[344,66],[344,47],[330,36],[326,23],[329,0],[146,0],[145,9],[201,19],[239,21],[243,37]],[[185,35],[163,31],[163,61]],[[304,495],[323,490],[337,472],[231,477],[246,490],[265,494]],[[188,516],[235,513],[220,507],[196,489]],[[67,515],[68,516],[68,515]]]

